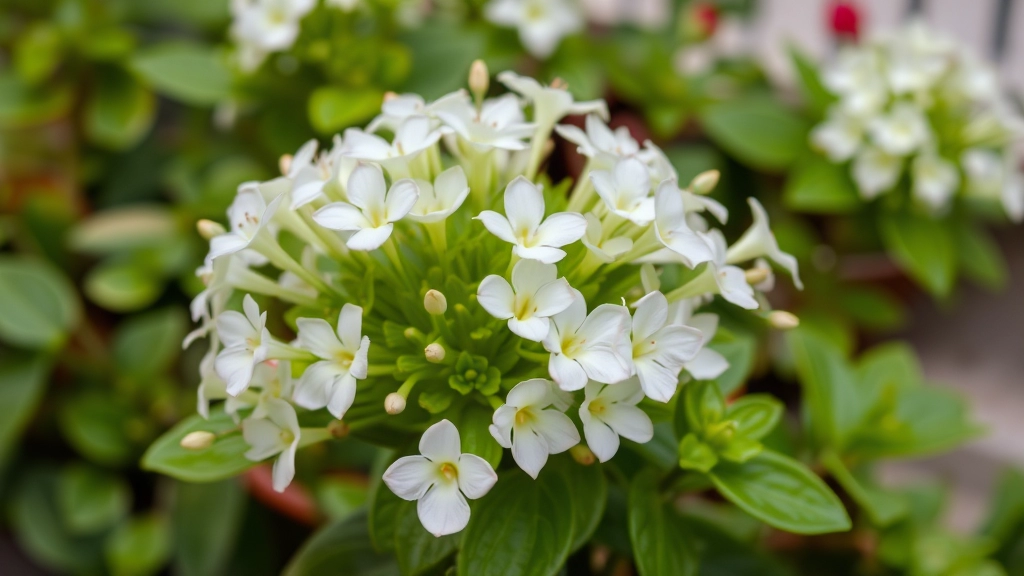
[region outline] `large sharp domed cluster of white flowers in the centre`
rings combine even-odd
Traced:
[[[638,405],[728,367],[708,347],[718,317],[701,306],[766,307],[766,258],[799,286],[756,200],[736,243],[712,227],[728,216],[707,196],[717,172],[680,188],[656,146],[605,125],[603,101],[498,78],[511,92],[486,97],[477,61],[470,91],[392,94],[367,130],[318,153],[310,141],[281,177],[243,183],[228,228],[200,223],[210,252],[189,341],[208,335],[211,348],[199,411],[225,400],[247,456],[275,458],[275,489],[299,447],[339,430],[426,430],[422,455],[383,481],[419,500],[432,533],[459,531],[466,498],[497,479],[497,462],[463,453],[467,411],[489,416],[493,442],[534,478],[581,443],[577,422],[605,461],[621,438],[651,439]],[[586,130],[556,126],[584,114]],[[540,173],[554,130],[587,157],[568,195]],[[300,425],[324,410],[344,424]]]

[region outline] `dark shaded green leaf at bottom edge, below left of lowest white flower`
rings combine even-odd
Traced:
[[[292,557],[285,576],[397,576],[394,558],[374,550],[366,512],[334,522],[313,534]]]

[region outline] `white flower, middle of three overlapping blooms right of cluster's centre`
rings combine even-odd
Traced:
[[[630,313],[601,304],[587,314],[587,300],[572,289],[572,303],[552,317],[544,347],[551,353],[548,373],[563,390],[578,390],[587,379],[613,384],[630,377]]]

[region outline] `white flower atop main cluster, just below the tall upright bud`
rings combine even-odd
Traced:
[[[433,110],[463,140],[481,150],[525,150],[523,138],[534,134],[535,126],[525,121],[513,94],[484,100],[477,109],[469,94],[459,90],[434,102]]]

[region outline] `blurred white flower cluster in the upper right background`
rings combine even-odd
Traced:
[[[850,161],[865,200],[908,190],[942,214],[959,194],[1024,217],[1013,147],[1024,126],[995,71],[966,48],[914,24],[845,47],[821,80],[837,101],[812,143],[833,162]]]

